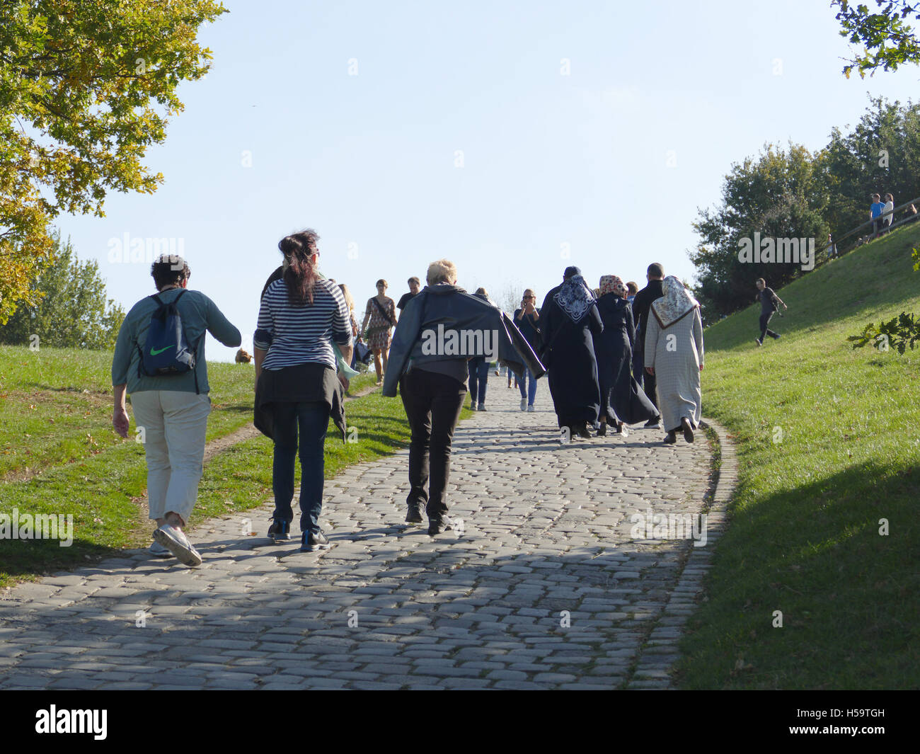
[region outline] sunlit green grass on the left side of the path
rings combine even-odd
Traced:
[[[27,348],[0,348],[0,447],[10,451],[2,456],[6,465],[0,469],[22,473],[28,466],[32,472],[27,479],[0,482],[0,513],[16,508],[20,516],[74,516],[70,547],[52,539],[0,539],[0,586],[150,541],[153,524],[141,516],[139,505],[146,485],[144,447],[121,439],[111,428],[110,363],[106,352],[48,348],[31,354]],[[211,440],[251,422],[254,373],[248,365],[209,364],[208,377]],[[373,386],[374,378],[355,377],[350,393]],[[327,478],[348,464],[408,444],[400,400],[384,399],[375,391],[349,401],[346,412],[357,442],[343,444],[330,423]],[[191,527],[270,498],[271,455],[271,442],[261,435],[217,454],[205,467]]]

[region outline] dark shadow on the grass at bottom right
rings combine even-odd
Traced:
[[[918,494],[920,469],[863,464],[742,503],[689,624],[681,685],[916,688]]]

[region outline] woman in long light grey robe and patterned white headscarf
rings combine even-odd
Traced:
[[[645,337],[646,371],[656,377],[658,408],[668,435],[666,445],[692,443],[702,415],[700,375],[703,371],[703,323],[699,303],[673,275],[662,283],[664,296],[651,305]]]

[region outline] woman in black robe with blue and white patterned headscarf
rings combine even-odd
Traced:
[[[588,424],[597,426],[601,387],[593,338],[604,330],[597,300],[578,267],[567,267],[563,282],[543,300],[540,331],[559,428],[571,436],[591,437]]]

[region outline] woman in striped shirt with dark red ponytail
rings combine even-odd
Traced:
[[[319,528],[323,507],[323,446],[334,391],[339,344],[345,363],[351,361],[351,321],[339,286],[320,278],[315,230],[282,238],[281,280],[269,285],[259,307],[253,337],[259,406],[270,406],[275,443],[272,490],[275,511],[271,539],[290,539],[293,520],[293,464],[300,434],[301,551],[325,550],[328,540]]]

